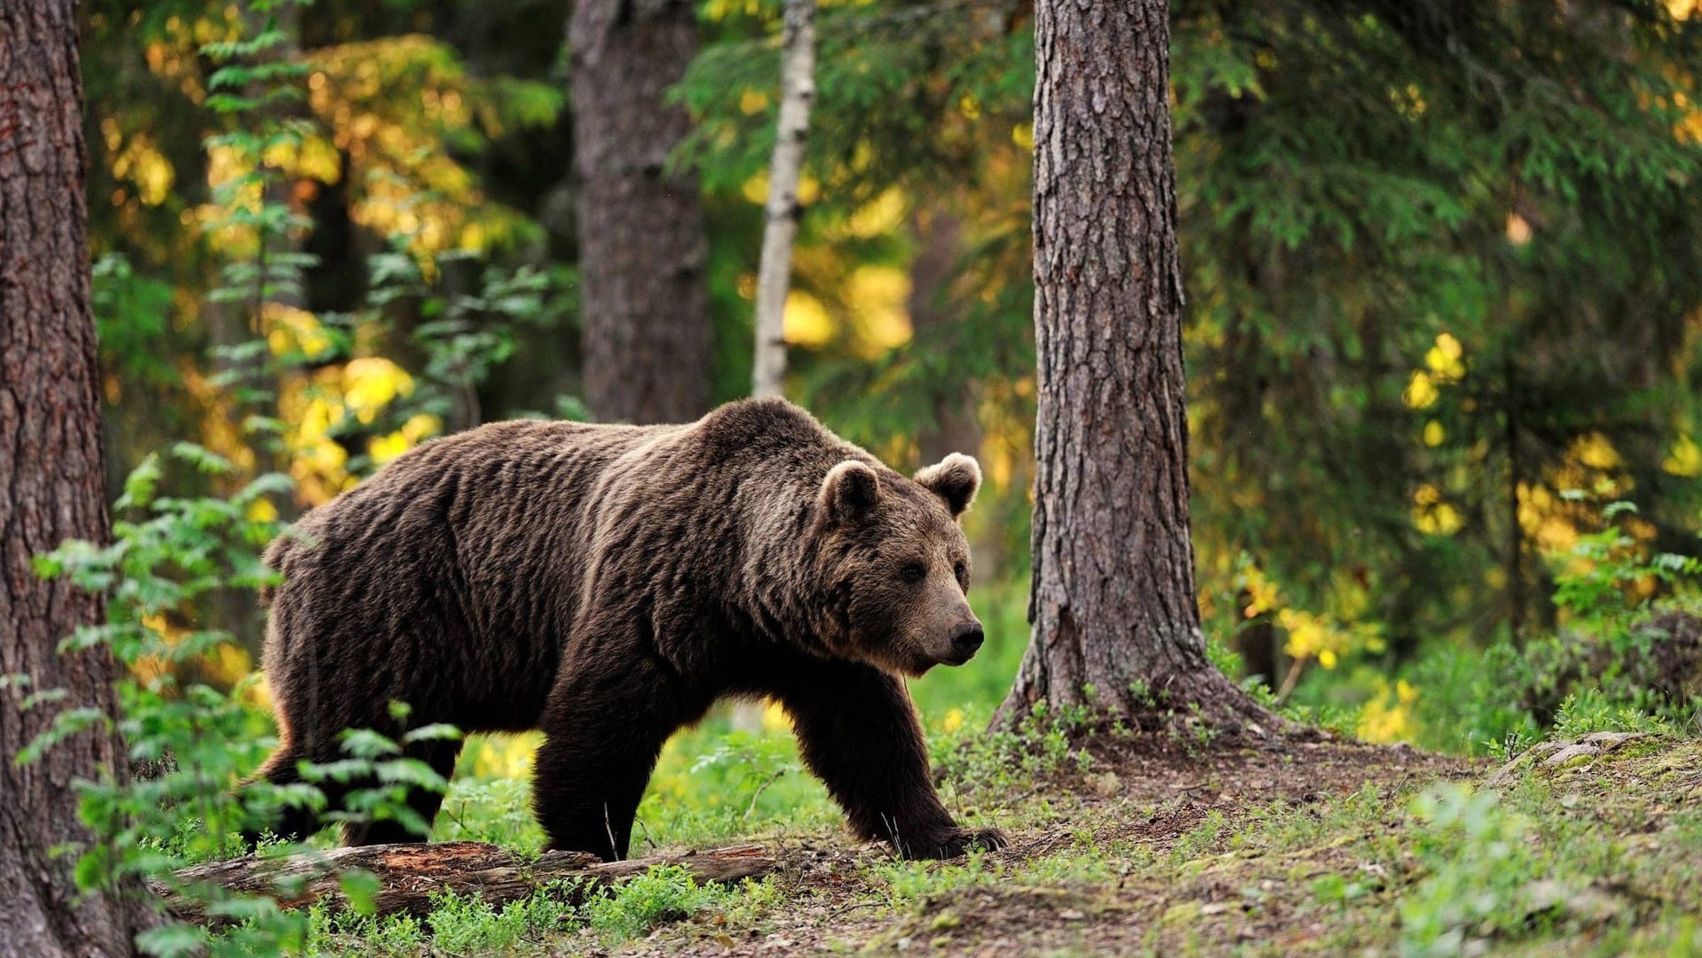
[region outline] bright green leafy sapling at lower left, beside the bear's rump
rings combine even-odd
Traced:
[[[191,444],[172,449],[174,461],[201,471],[228,471],[230,465]],[[342,808],[327,810],[334,822],[397,820],[424,834],[429,822],[407,805],[410,788],[443,790],[429,766],[400,757],[400,744],[371,730],[344,733],[346,757],[303,762],[301,783],[274,786],[250,781],[260,759],[276,747],[271,723],[250,701],[259,681],[235,684],[223,662],[233,652],[231,636],[192,626],[197,597],[211,590],[255,589],[276,582],[255,550],[276,534],[276,524],[248,519],[250,507],[267,495],[286,493],[288,480],[260,476],[230,499],[177,499],[158,495],[167,478],[158,458],[146,459],[124,483],[111,546],[68,541],[36,563],[39,573],[66,579],[78,589],[107,596],[107,621],[78,630],[61,648],[104,647],[123,667],[117,711],[68,708],[17,757],[34,762],[46,750],[92,727],[114,728],[128,761],[140,774],[109,774],[78,784],[78,815],[97,844],[78,854],[77,881],[83,890],[123,893],[136,878],[163,880],[177,892],[208,902],[209,914],[235,919],[228,932],[167,924],[138,943],[153,955],[209,951],[250,955],[300,946],[306,919],[281,910],[264,895],[230,895],[214,887],[182,883],[172,870],[243,853],[242,832],[283,807],[325,808],[320,783],[354,783]],[[184,623],[184,624],[180,624]],[[36,689],[27,708],[56,703],[63,694]],[[391,708],[402,721],[407,708]],[[453,738],[444,725],[408,730],[403,742]],[[357,876],[346,876],[359,902]]]

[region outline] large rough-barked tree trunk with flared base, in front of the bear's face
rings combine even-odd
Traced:
[[[1188,419],[1164,0],[1035,5],[1031,703],[1261,737],[1275,716],[1205,657],[1188,539]]]

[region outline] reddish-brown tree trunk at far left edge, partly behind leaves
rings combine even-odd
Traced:
[[[20,710],[0,691],[0,955],[129,955],[145,912],[121,897],[78,898],[78,778],[123,774],[104,730],[75,735],[41,761],[14,762],[60,708],[111,713],[112,660],[60,655],[58,643],[100,619],[97,596],[43,582],[31,556],[63,539],[106,541],[100,396],[89,308],[82,77],[73,0],[0,3],[0,676],[65,689]]]

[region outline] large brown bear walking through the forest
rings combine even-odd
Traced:
[[[262,774],[340,757],[344,728],[398,732],[391,701],[415,725],[538,728],[550,847],[620,859],[669,735],[720,698],[771,696],[858,835],[912,858],[999,847],[934,795],[900,679],[982,643],[958,527],[979,485],[962,454],[904,478],[783,400],[427,442],[267,551],[281,747]],[[458,749],[407,747],[446,778]],[[427,822],[439,803],[410,796]],[[317,827],[291,810],[272,830]],[[374,822],[344,841],[417,837]]]

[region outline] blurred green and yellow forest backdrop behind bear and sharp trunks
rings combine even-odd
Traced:
[[[745,395],[780,0],[254,7],[83,5],[114,493],[191,437],[238,465],[209,485],[281,461],[288,517],[480,420]],[[208,53],[257,31],[252,82],[294,90],[259,155]],[[977,575],[1021,604],[1031,7],[822,3],[817,39],[786,393],[900,468],[979,453]],[[1636,548],[1699,551],[1693,0],[1176,0],[1171,39],[1208,635],[1358,706],[1564,626],[1554,577],[1603,502],[1637,505]],[[237,313],[213,291],[259,230],[298,289]],[[650,332],[684,345],[618,366]],[[209,352],[233,340],[269,369],[243,415]],[[994,687],[1026,640],[1002,631]]]

